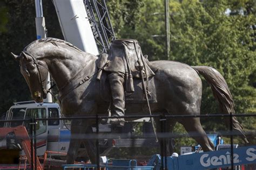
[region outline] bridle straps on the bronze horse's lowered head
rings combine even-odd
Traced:
[[[30,61],[30,62],[26,63],[25,65],[26,65],[26,66],[32,65],[32,64],[36,65],[37,74],[38,74],[38,80],[39,80],[39,83],[41,84],[41,88],[42,88],[42,91],[43,91],[43,98],[46,98],[46,95],[47,95],[47,93],[48,93],[49,90],[46,89],[46,87],[45,87],[45,86],[46,86],[46,83],[44,83],[44,82],[47,81],[47,80],[46,80],[47,77],[45,77],[45,79],[43,80],[43,77],[42,77],[42,74],[41,74],[41,72],[40,72],[39,66],[40,66],[40,65],[43,66],[43,67],[47,70],[47,72],[49,72],[48,66],[46,66],[43,62],[41,62],[41,61],[35,59],[32,55],[30,55],[30,54],[27,53],[27,52],[22,52],[22,53],[23,53],[23,55],[29,55],[29,56],[31,56],[31,58],[33,59],[33,61]],[[28,67],[27,67],[27,68],[28,68]]]

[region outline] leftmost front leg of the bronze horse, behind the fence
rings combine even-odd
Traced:
[[[69,150],[66,155],[66,163],[67,164],[74,164],[78,148],[80,146],[80,140],[77,139],[77,137],[81,134],[80,128],[82,125],[81,120],[72,120],[71,121],[71,137],[70,137],[70,143],[69,143]]]

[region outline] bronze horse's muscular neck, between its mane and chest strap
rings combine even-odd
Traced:
[[[49,48],[43,60],[57,87],[61,88],[77,74],[80,68],[89,63],[88,60],[91,59],[87,55],[90,54],[71,47]]]

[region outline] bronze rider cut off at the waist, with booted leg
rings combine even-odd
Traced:
[[[145,65],[145,58],[142,55],[137,40],[118,39],[113,40],[109,50],[109,63],[104,70],[110,74],[107,76],[110,83],[112,105],[111,115],[116,118],[110,119],[110,124],[123,126],[125,119],[125,93],[133,93],[133,77],[140,77],[140,71],[143,75],[154,74],[152,70]],[[141,69],[139,69],[139,67]]]

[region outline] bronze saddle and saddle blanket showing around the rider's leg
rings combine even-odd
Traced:
[[[107,80],[107,75],[110,72],[104,70],[104,67],[109,63],[108,54],[99,54],[99,59],[97,61],[97,80],[100,83],[100,97],[106,102],[111,101],[111,92],[110,92],[110,84],[109,80]],[[147,55],[144,56],[144,61],[149,67],[153,74],[150,74],[145,80],[146,88],[147,88],[147,97],[149,98],[150,103],[157,103],[157,95],[156,95],[156,87],[154,86],[154,73],[157,72],[158,68],[151,65],[149,60],[147,60]],[[133,87],[134,93],[125,92],[125,103],[146,103],[146,97],[143,90],[142,79],[139,76],[133,76]]]

